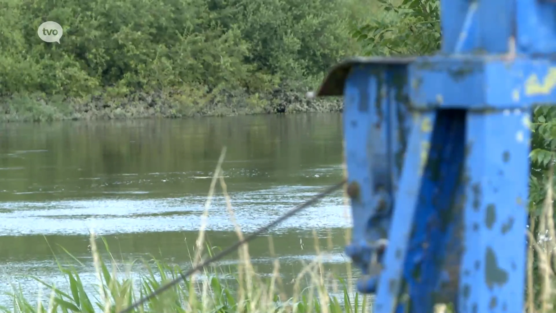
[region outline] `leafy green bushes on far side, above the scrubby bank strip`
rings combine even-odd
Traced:
[[[342,0],[6,0],[0,95],[126,95],[201,84],[266,91],[353,52]],[[63,27],[42,42],[44,21]]]

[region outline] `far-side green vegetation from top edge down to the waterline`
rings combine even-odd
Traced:
[[[6,0],[4,119],[308,110],[300,95],[358,51],[360,2]],[[60,44],[37,36],[44,21]]]

